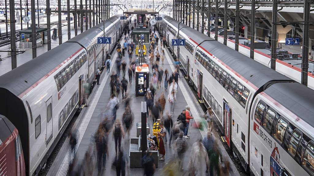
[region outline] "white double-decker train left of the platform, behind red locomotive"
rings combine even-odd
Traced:
[[[83,102],[83,84],[93,84],[127,20],[103,23],[0,76],[0,115],[19,131],[26,175],[38,174],[50,156]],[[97,44],[104,36],[111,44]]]

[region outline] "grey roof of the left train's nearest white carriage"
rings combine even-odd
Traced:
[[[63,43],[0,76],[0,87],[19,96],[81,48],[78,44]]]

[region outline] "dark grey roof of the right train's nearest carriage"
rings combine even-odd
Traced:
[[[276,83],[264,91],[268,96],[314,127],[313,90],[300,83]],[[295,119],[297,121],[297,119]]]

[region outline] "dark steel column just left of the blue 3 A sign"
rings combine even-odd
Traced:
[[[271,60],[270,68],[276,70],[276,49],[277,49],[277,12],[278,12],[278,1],[273,0],[273,26],[272,26],[272,51],[271,51]]]

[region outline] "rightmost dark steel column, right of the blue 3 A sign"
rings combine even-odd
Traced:
[[[303,8],[303,46],[302,46],[302,74],[301,74],[301,84],[307,86],[307,72],[309,68],[309,19],[310,19],[310,0],[304,0]],[[311,50],[310,50],[311,51]]]

